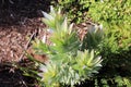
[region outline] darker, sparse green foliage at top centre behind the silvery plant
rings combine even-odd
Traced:
[[[58,0],[56,5],[62,8],[69,20],[74,23],[85,22],[92,0]]]

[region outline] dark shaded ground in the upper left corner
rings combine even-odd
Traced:
[[[51,0],[0,0],[0,23],[43,16],[40,11],[49,11],[50,3]]]

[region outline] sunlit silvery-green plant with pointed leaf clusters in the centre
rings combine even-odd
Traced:
[[[97,57],[93,49],[81,50],[82,42],[76,32],[72,24],[68,24],[60,10],[55,11],[51,7],[50,13],[44,12],[44,23],[52,30],[49,38],[52,44],[35,40],[34,48],[49,58],[46,64],[40,65],[41,73],[38,74],[46,87],[73,87],[98,73],[102,66],[100,57]]]

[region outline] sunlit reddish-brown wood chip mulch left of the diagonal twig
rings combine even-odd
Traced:
[[[0,26],[0,62],[20,61],[28,38],[44,27],[40,18],[27,18],[22,25]]]

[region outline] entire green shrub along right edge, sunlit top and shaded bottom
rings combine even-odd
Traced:
[[[105,28],[104,39],[97,47],[104,59],[104,66],[97,77],[99,86],[105,86],[102,84],[104,82],[109,87],[131,86],[130,5],[130,0],[104,0],[90,5],[88,16]]]

